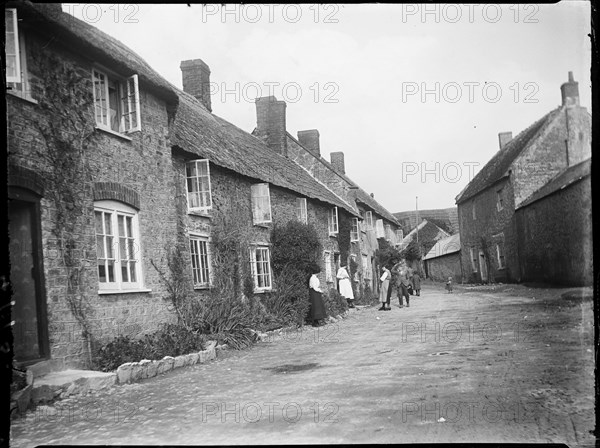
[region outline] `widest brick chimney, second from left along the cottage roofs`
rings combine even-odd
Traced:
[[[285,101],[274,96],[256,99],[256,134],[272,150],[287,157]]]

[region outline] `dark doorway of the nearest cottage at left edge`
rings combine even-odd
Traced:
[[[39,198],[10,188],[8,219],[14,356],[31,364],[49,355]]]

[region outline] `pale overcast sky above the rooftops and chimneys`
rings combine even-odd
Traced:
[[[561,103],[572,71],[591,112],[590,3],[63,4],[182,88],[211,70],[213,113],[252,132],[256,97],[391,212],[446,208],[499,150]]]

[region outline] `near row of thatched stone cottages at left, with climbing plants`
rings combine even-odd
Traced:
[[[274,286],[275,224],[311,223],[336,253],[339,220],[360,219],[347,198],[212,114],[201,61],[182,63],[181,91],[60,4],[7,3],[5,23],[9,278],[21,365],[82,366],[93,343],[173,322],[159,273],[167,251],[184,249],[189,290],[205,294],[221,219],[239,218],[250,237],[240,257],[256,293]]]

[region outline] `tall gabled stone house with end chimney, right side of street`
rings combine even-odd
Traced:
[[[579,105],[571,72],[560,90],[559,107],[515,138],[499,134],[500,150],[456,197],[464,281],[524,280],[515,211],[553,178],[591,157],[591,115]],[[572,211],[565,207],[560,213]],[[548,263],[558,263],[557,255]]]

